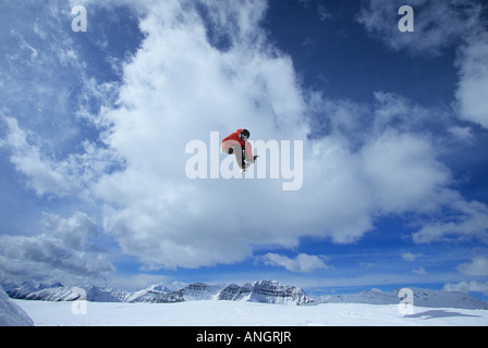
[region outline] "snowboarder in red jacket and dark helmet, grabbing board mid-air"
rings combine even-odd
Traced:
[[[253,149],[251,148],[249,141],[247,141],[249,137],[249,130],[237,129],[222,140],[222,152],[235,154],[235,160],[243,172],[258,158],[258,156],[253,156]]]

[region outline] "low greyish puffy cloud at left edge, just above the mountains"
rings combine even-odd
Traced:
[[[114,271],[96,246],[95,222],[85,213],[71,217],[46,214],[44,232],[34,236],[0,236],[4,277],[57,281],[100,279]]]

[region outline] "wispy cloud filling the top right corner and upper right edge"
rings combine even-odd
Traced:
[[[457,115],[488,127],[488,38],[481,4],[477,1],[416,0],[415,32],[401,33],[394,25],[402,1],[366,1],[358,22],[368,33],[394,50],[438,55],[447,47],[457,47],[460,82],[455,92]]]

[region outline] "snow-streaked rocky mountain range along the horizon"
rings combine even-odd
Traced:
[[[370,289],[361,294],[322,296],[314,299],[298,287],[284,285],[272,279],[249,282],[243,286],[237,284],[216,286],[193,283],[178,290],[171,290],[162,285],[152,285],[138,291],[101,288],[95,285],[64,286],[60,283],[40,284],[38,286],[32,283],[21,285],[2,283],[1,285],[9,297],[13,299],[42,301],[86,299],[91,302],[174,303],[195,300],[228,300],[298,306],[341,302],[398,304],[406,296],[405,291],[400,293],[400,289],[393,291]],[[406,294],[408,295],[406,299],[417,307],[488,310],[488,303],[464,293],[410,287]]]

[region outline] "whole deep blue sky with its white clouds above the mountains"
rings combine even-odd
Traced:
[[[488,10],[403,4],[0,0],[2,278],[486,298]],[[241,127],[303,141],[300,190],[185,175]]]

